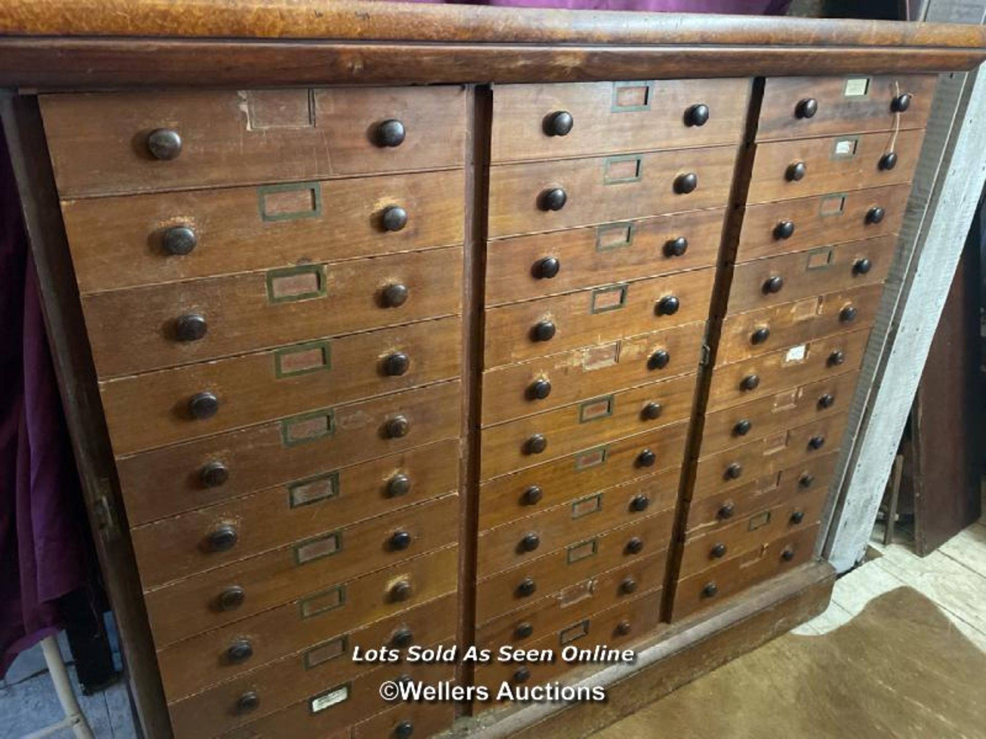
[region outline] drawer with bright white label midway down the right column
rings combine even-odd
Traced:
[[[864,328],[717,367],[712,371],[706,412],[859,370],[869,338],[870,329]]]

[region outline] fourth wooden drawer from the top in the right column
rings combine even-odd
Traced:
[[[896,245],[896,236],[880,236],[738,264],[727,312],[878,285],[890,270]]]

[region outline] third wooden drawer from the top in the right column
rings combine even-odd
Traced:
[[[909,184],[899,184],[751,205],[743,213],[736,260],[896,234],[910,192]]]

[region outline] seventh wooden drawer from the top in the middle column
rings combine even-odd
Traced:
[[[611,486],[655,475],[660,493],[677,491],[687,423],[600,444],[479,486],[479,526],[490,528]]]

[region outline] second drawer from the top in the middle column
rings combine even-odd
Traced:
[[[628,221],[665,213],[725,208],[737,147],[689,149],[490,168],[489,235]],[[689,192],[683,179],[696,178]],[[553,190],[564,204],[551,210]],[[555,195],[559,197],[560,195]]]

